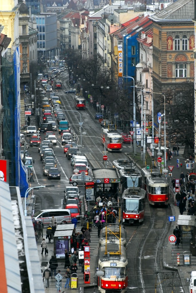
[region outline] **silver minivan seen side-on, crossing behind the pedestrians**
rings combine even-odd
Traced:
[[[32,218],[35,218],[37,221],[41,220],[45,226],[48,226],[51,224],[52,216],[57,220],[57,225],[71,223],[69,209],[42,209],[41,211],[35,212]]]

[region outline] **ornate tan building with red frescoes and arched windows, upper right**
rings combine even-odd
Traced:
[[[194,1],[178,0],[149,18],[153,21],[154,92],[193,81]]]

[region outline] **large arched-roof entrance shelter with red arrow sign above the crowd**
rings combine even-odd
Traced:
[[[114,197],[117,200],[120,177],[116,168],[92,169],[94,182],[94,199],[98,196]],[[101,192],[99,191],[101,189]],[[105,189],[107,190],[105,192]]]

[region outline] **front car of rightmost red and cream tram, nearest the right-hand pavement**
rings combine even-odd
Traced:
[[[163,177],[148,177],[146,194],[150,205],[168,205],[169,183]]]

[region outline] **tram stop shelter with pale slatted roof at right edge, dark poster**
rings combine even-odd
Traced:
[[[183,248],[189,248],[190,243],[195,246],[195,216],[178,215],[180,243]]]

